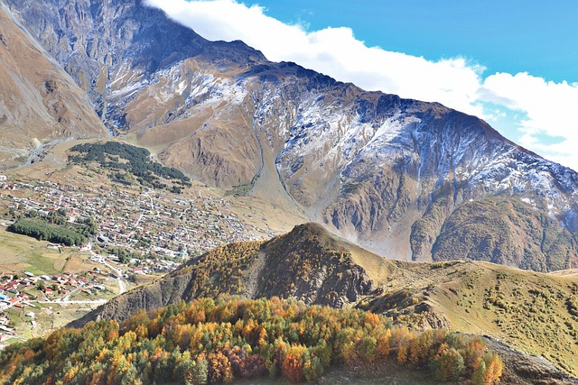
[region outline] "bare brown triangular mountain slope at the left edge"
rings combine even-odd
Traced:
[[[89,98],[11,16],[0,4],[0,167],[42,143],[106,135]]]

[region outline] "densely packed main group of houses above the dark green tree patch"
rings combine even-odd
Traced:
[[[5,183],[5,182],[0,182]],[[245,224],[219,197],[182,198],[105,187],[73,188],[51,181],[11,184],[0,205],[18,212],[48,214],[63,208],[70,222],[92,217],[99,245],[122,247],[155,258],[188,258],[223,243],[262,239],[273,232]],[[270,233],[270,234],[269,234]]]

